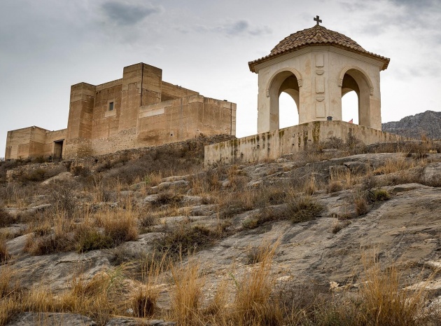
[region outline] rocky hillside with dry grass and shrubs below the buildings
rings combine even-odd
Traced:
[[[440,149],[396,145],[20,165],[0,325],[439,325]]]

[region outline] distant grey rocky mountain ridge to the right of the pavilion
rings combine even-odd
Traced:
[[[381,124],[383,131],[421,139],[426,135],[430,139],[441,139],[441,112],[426,111],[405,116],[400,121],[391,121]]]

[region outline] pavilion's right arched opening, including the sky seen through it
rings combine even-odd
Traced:
[[[342,80],[342,121],[370,127],[371,86],[360,70],[348,69]]]

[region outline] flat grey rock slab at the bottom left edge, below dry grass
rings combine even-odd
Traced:
[[[96,326],[97,323],[84,315],[74,313],[20,313],[8,326]]]

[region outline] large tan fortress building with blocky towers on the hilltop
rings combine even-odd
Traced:
[[[161,69],[139,63],[122,79],[71,86],[67,128],[8,131],[5,158],[75,158],[235,133],[235,103],[162,81]]]

